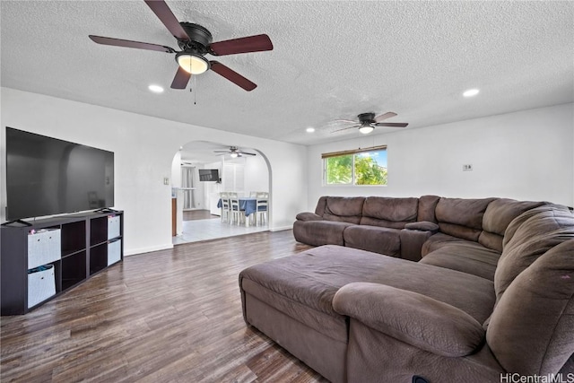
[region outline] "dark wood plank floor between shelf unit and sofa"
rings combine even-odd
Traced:
[[[241,315],[238,274],[307,249],[292,231],[132,257],[1,318],[2,382],[323,382]]]

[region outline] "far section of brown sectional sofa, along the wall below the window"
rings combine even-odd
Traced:
[[[322,196],[315,213],[297,214],[293,235],[313,246],[361,248],[413,261],[451,242],[500,256],[509,222],[546,204],[508,198]]]

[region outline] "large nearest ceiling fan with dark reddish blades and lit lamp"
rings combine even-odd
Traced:
[[[206,54],[213,56],[236,55],[238,53],[261,52],[272,50],[273,43],[265,34],[248,36],[239,39],[228,39],[212,42],[213,37],[209,30],[199,24],[191,22],[178,22],[171,13],[170,7],[163,0],[144,0],[152,8],[153,13],[160,19],[174,38],[178,40],[181,51],[173,48],[150,44],[147,42],[131,41],[126,39],[113,39],[90,35],[90,39],[98,44],[112,45],[116,47],[139,48],[157,50],[159,52],[175,53],[178,62],[176,73],[171,88],[186,89],[192,74],[203,74],[211,69],[216,74],[222,75],[231,83],[239,85],[246,91],[253,91],[257,84],[252,83],[241,74],[233,71],[226,65],[213,60],[207,60]]]

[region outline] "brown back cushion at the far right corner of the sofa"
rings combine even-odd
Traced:
[[[527,210],[547,204],[546,202],[515,201],[508,198],[495,199],[484,212],[483,232],[478,238],[479,243],[501,253],[504,232],[510,222]]]

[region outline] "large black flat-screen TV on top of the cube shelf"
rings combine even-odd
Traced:
[[[114,205],[114,153],[6,127],[6,219]]]

